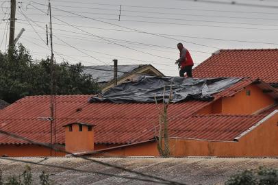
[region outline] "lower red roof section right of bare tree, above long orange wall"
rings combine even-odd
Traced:
[[[170,136],[204,140],[233,140],[265,115],[194,115],[188,119],[173,119]],[[186,124],[184,124],[186,123]]]

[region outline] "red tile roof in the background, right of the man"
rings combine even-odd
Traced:
[[[278,84],[278,49],[222,49],[199,64],[194,77],[252,77]]]

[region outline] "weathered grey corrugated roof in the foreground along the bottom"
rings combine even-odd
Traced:
[[[141,177],[112,167],[106,167],[81,158],[15,158],[40,164],[54,164],[86,171],[99,171],[129,177]],[[149,175],[174,180],[185,184],[224,184],[229,176],[244,169],[257,169],[260,166],[278,167],[278,158],[94,158],[101,162],[116,164],[121,167],[139,171]],[[10,162],[0,159],[3,177],[22,173],[23,162]],[[28,164],[34,175],[34,184],[38,184],[41,171],[51,174],[54,184],[151,184],[138,180],[127,180],[119,177],[81,173],[77,171],[57,169],[53,167]],[[37,183],[36,183],[37,182]]]

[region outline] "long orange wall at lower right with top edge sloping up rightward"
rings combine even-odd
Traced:
[[[173,156],[263,157],[278,156],[278,113],[242,136],[238,142],[173,138]]]

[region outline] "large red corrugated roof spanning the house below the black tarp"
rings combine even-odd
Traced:
[[[253,80],[242,79],[237,84],[214,95],[234,95]],[[135,143],[156,136],[158,123],[155,103],[88,103],[90,95],[57,97],[57,143],[64,143],[67,123],[81,122],[96,125],[95,143]],[[20,136],[49,143],[49,96],[25,97],[0,112],[0,129]],[[170,136],[209,140],[232,140],[247,130],[262,116],[231,116],[194,114],[212,101],[172,103],[168,108]],[[27,144],[0,134],[0,144]]]

